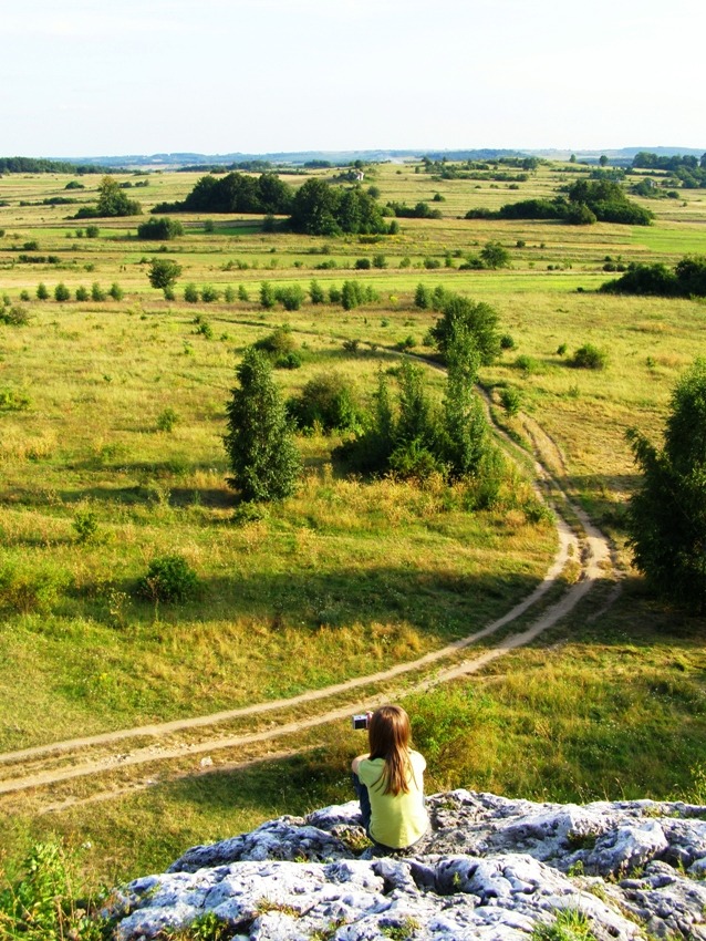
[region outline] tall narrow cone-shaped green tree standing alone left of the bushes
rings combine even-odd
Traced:
[[[229,484],[245,500],[277,500],[297,488],[301,459],[268,356],[250,347],[236,370],[224,437]]]

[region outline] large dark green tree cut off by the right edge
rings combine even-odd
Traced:
[[[706,613],[706,359],[672,395],[664,446],[627,432],[642,479],[629,506],[635,565],[661,594]]]

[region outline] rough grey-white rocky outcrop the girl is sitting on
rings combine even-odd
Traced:
[[[375,855],[355,802],[194,847],[116,893],[116,938],[212,913],[242,941],[527,941],[557,920],[598,941],[706,941],[706,807],[454,790],[428,808],[429,835],[395,856]]]

